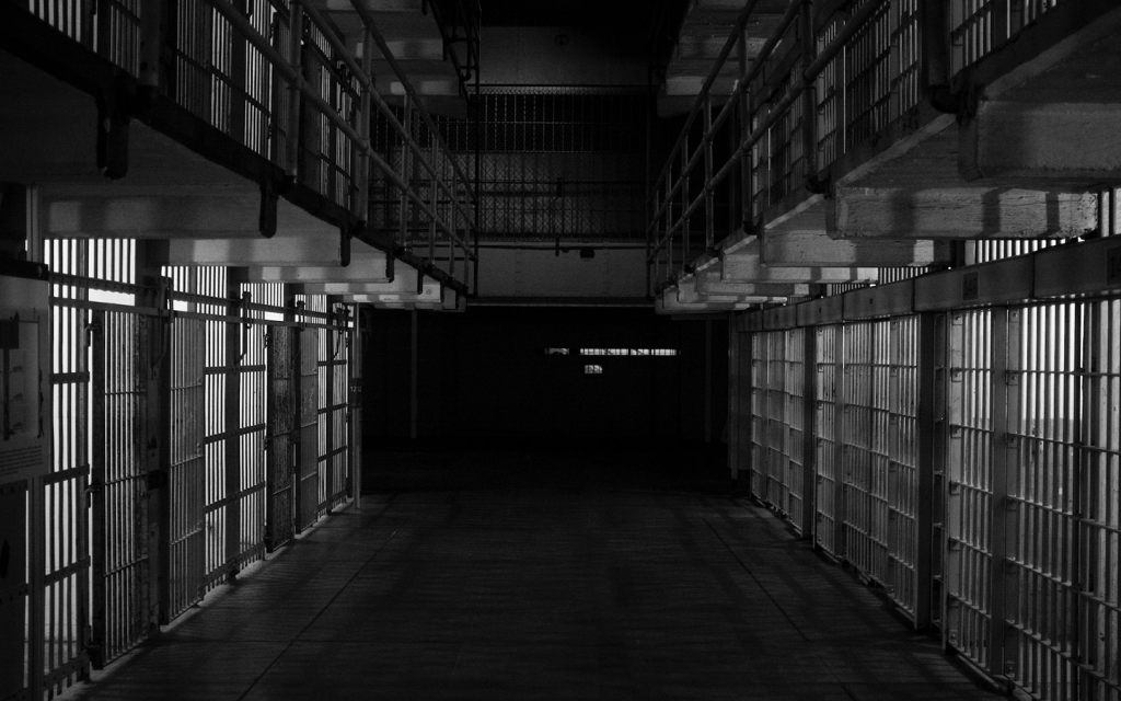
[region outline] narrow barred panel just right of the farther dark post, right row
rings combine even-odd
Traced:
[[[837,396],[837,379],[842,376],[841,356],[837,354],[839,343],[844,334],[841,325],[818,326],[815,353],[817,356],[817,405],[815,409],[814,464],[817,471],[817,495],[814,499],[817,516],[815,518],[814,542],[825,552],[835,557],[843,555],[843,543],[837,542],[837,522],[841,518],[837,502],[841,483],[841,465],[837,463],[837,446],[843,440],[837,414],[840,411]]]

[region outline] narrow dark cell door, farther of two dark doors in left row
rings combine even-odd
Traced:
[[[293,326],[274,326],[268,347],[268,434],[266,436],[265,546],[271,552],[296,533],[296,455],[299,448],[298,336]]]

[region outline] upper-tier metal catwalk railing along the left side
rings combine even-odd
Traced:
[[[138,94],[172,101],[266,159],[278,174],[262,176],[266,193],[307,188],[343,213],[346,237],[367,238],[418,268],[473,284],[472,178],[363,3],[353,4],[363,24],[361,45],[371,49],[362,57],[315,6],[299,0],[16,4],[118,66]],[[469,50],[462,59],[455,54],[456,62],[478,73],[478,39],[463,40]],[[404,116],[374,86],[374,46],[404,86]],[[111,87],[103,86],[106,93]],[[389,153],[371,142],[379,124],[393,135]],[[124,175],[112,164],[106,172]],[[371,191],[376,181],[399,203],[401,224],[389,231],[368,227],[371,199],[383,196]],[[423,234],[410,231],[409,221],[423,222]]]

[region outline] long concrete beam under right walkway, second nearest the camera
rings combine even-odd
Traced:
[[[1093,194],[1016,187],[841,187],[826,213],[839,239],[1067,238],[1096,227]]]

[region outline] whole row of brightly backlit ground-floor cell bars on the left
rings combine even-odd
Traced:
[[[196,295],[175,303],[164,331],[133,306],[135,294],[111,289],[136,282],[135,250],[121,240],[47,243],[52,270],[77,276],[52,285],[44,626],[29,627],[27,639],[45,651],[50,694],[143,639],[151,611],[164,620],[182,614],[349,498],[349,334],[322,319],[304,331],[276,323],[293,314],[282,286],[231,285],[224,268],[164,270],[175,292]],[[245,313],[231,302],[238,293],[269,308]],[[327,311],[323,295],[298,299]],[[170,514],[166,542],[155,543],[147,423],[151,345],[161,335]],[[152,548],[167,553],[166,600],[152,600]]]

